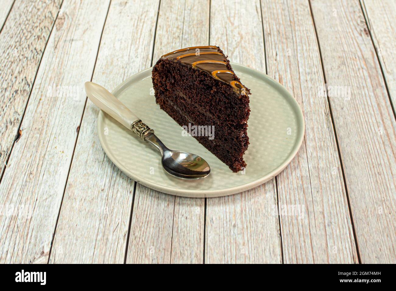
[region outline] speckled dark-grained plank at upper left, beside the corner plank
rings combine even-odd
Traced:
[[[48,5],[39,0],[16,1],[0,34],[0,177],[60,4],[61,0]]]

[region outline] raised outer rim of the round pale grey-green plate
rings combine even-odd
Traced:
[[[257,180],[254,181],[250,181],[248,183],[244,183],[238,186],[234,186],[234,187],[230,187],[230,188],[224,188],[224,189],[217,189],[217,190],[190,190],[190,189],[178,189],[178,188],[173,188],[173,187],[168,187],[168,186],[164,186],[164,185],[160,185],[158,183],[154,183],[152,181],[148,181],[142,177],[139,177],[138,175],[135,175],[131,172],[129,172],[124,166],[122,166],[121,164],[118,164],[117,159],[112,159],[113,154],[110,153],[110,151],[108,151],[107,147],[105,146],[105,142],[103,140],[103,134],[101,134],[101,125],[103,124],[103,119],[105,118],[105,113],[102,110],[99,110],[99,114],[98,114],[98,120],[97,120],[97,130],[98,130],[98,136],[99,136],[99,140],[101,143],[101,146],[103,148],[103,150],[105,151],[107,157],[110,159],[110,161],[115,164],[117,166],[117,168],[119,168],[124,174],[126,174],[129,178],[131,178],[132,180],[134,180],[137,183],[142,184],[143,186],[146,186],[150,189],[153,189],[155,191],[160,191],[163,193],[167,193],[170,195],[176,195],[176,196],[183,196],[183,197],[192,197],[192,198],[203,198],[203,197],[220,197],[220,196],[226,196],[226,195],[232,195],[232,194],[236,194],[236,193],[240,193],[249,189],[252,189],[254,187],[257,187],[269,180],[271,180],[272,178],[274,178],[275,176],[277,176],[280,172],[282,172],[286,166],[294,159],[294,157],[297,155],[297,152],[299,151],[299,149],[301,148],[301,145],[303,143],[304,140],[304,136],[305,136],[305,120],[304,120],[304,115],[303,115],[303,111],[301,110],[301,107],[299,105],[299,103],[297,102],[297,100],[293,97],[293,95],[291,95],[291,93],[279,82],[277,82],[275,79],[273,79],[272,77],[268,76],[267,74],[259,71],[259,70],[255,70],[253,68],[249,68],[247,66],[241,65],[241,64],[237,64],[237,63],[233,63],[230,62],[232,68],[236,69],[236,68],[242,68],[242,70],[251,70],[253,71],[253,73],[258,74],[258,75],[264,75],[264,77],[266,77],[267,79],[269,79],[272,83],[272,85],[274,85],[275,87],[278,87],[278,89],[280,88],[281,91],[283,91],[286,94],[282,94],[283,96],[287,96],[288,99],[290,99],[291,102],[294,102],[295,108],[298,108],[297,110],[297,116],[298,119],[301,121],[302,123],[302,130],[299,131],[299,135],[297,136],[297,141],[296,141],[296,146],[294,147],[293,151],[291,152],[291,154],[289,155],[289,158],[287,160],[284,161],[284,163],[282,163],[278,168],[276,168],[274,171],[268,173],[266,176],[263,176]],[[127,79],[125,79],[122,83],[120,83],[113,91],[112,94],[114,94],[114,96],[118,96],[118,94],[120,94],[122,91],[124,91],[123,87],[130,82],[131,79],[133,78],[137,78],[140,75],[145,75],[147,74],[148,71],[151,72],[152,67],[147,68],[146,70],[143,70],[141,72],[138,72],[136,74],[133,74],[132,76],[128,77]],[[236,69],[238,71],[238,69]],[[115,161],[114,161],[115,160]]]

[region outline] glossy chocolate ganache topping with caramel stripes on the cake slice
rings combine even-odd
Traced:
[[[189,51],[194,52],[189,53]],[[235,80],[234,72],[228,70],[227,62],[224,61],[225,56],[214,45],[177,49],[163,55],[161,58],[180,60],[193,68],[207,72],[219,81],[230,84],[236,93],[247,95],[246,88]]]

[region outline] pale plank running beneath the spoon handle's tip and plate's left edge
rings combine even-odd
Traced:
[[[150,66],[158,5],[111,1],[93,82],[111,91]],[[88,100],[50,263],[124,263],[135,182],[104,153],[97,136],[98,112]]]

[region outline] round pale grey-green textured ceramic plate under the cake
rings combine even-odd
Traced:
[[[247,163],[244,171],[233,173],[195,138],[184,136],[183,128],[160,110],[155,103],[151,68],[130,77],[112,93],[154,129],[168,148],[200,155],[209,163],[211,173],[201,180],[170,176],[162,169],[160,152],[156,148],[100,111],[98,133],[107,156],[138,183],[178,196],[230,195],[274,178],[301,146],[303,113],[293,96],[266,74],[239,64],[232,64],[232,68],[252,93],[247,129],[250,145],[244,155]]]

